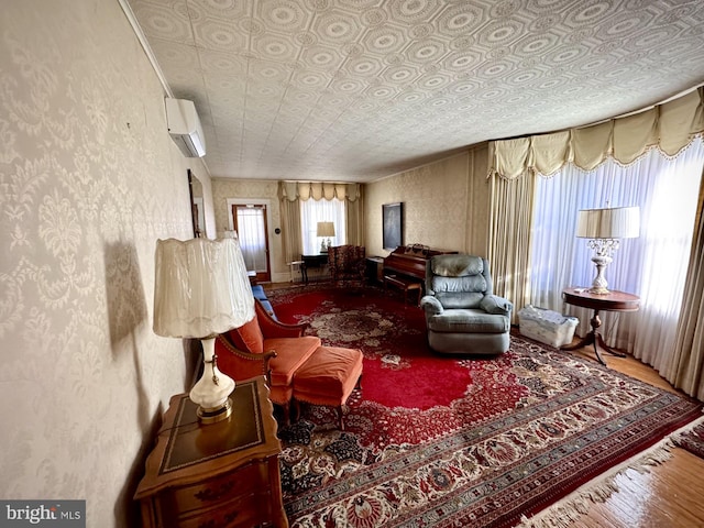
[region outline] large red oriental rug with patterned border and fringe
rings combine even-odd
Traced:
[[[606,495],[573,492],[635,455],[667,457],[662,440],[701,417],[694,400],[520,337],[498,358],[438,355],[422,311],[378,289],[270,298],[280,320],[364,352],[344,431],[320,407],[280,430],[293,527],[536,526],[568,495],[578,509]],[[562,503],[551,522],[578,515]]]

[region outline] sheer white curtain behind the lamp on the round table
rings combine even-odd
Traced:
[[[639,206],[640,237],[622,240],[606,279],[609,289],[640,296],[640,310],[601,314],[602,330],[609,345],[664,369],[674,345],[703,165],[700,136],[673,158],[653,148],[628,166],[608,160],[587,173],[566,165],[551,178],[537,178],[531,304],[564,311],[562,289],[592,284],[592,251],[574,237],[580,209]],[[584,334],[591,312],[570,311]]]

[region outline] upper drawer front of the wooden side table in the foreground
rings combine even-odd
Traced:
[[[266,491],[270,485],[266,470],[265,463],[252,462],[234,472],[177,488],[172,497],[174,507],[178,513],[186,513],[222,504],[230,497]]]

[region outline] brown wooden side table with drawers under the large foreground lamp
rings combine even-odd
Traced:
[[[287,528],[280,444],[265,378],[238,382],[232,416],[201,425],[187,394],[173,396],[134,498],[145,528]]]

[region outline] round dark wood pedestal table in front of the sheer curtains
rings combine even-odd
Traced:
[[[584,336],[584,338],[575,344],[564,344],[560,346],[561,350],[575,350],[590,344],[594,345],[594,353],[596,359],[602,365],[606,365],[606,362],[600,353],[600,348],[617,358],[625,358],[626,354],[615,351],[608,346],[602,336],[598,333],[598,328],[602,326],[602,320],[598,317],[601,310],[605,311],[638,311],[640,306],[640,298],[637,295],[626,294],[624,292],[609,292],[606,295],[591,294],[588,288],[565,288],[562,290],[562,299],[568,305],[580,306],[582,308],[591,308],[594,310],[594,316],[590,320],[592,330]]]

